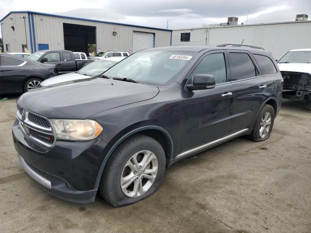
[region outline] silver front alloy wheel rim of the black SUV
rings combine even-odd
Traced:
[[[121,190],[130,198],[147,192],[155,182],[158,163],[155,154],[149,150],[135,153],[125,164],[121,173]]]

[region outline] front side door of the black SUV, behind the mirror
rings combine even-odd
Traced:
[[[210,74],[214,76],[216,86],[193,91],[184,100],[186,118],[181,152],[220,139],[230,132],[233,99],[228,93],[231,83],[226,52],[208,52],[197,64],[190,71],[188,82],[192,82],[195,74]]]

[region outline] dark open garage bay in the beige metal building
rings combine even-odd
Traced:
[[[96,27],[63,23],[65,50],[73,52],[95,52]]]

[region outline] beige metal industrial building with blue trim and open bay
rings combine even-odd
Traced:
[[[170,46],[172,30],[51,15],[12,11],[1,20],[4,52],[71,50],[129,53]]]

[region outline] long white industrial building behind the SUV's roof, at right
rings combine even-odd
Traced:
[[[297,15],[292,22],[238,25],[237,17],[229,17],[226,23],[173,31],[172,45],[220,44],[259,46],[278,59],[288,50],[311,48],[311,20]]]

